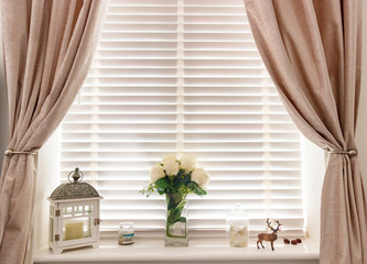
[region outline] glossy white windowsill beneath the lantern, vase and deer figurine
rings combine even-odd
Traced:
[[[36,252],[34,264],[47,263],[319,263],[319,244],[305,240],[298,245],[276,241],[276,251],[270,243],[258,250],[256,240],[248,248],[231,248],[225,239],[193,239],[188,248],[164,248],[163,240],[140,239],[132,245],[118,245],[117,240],[104,239],[99,249],[84,248],[54,255],[44,248]]]

